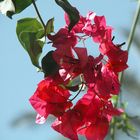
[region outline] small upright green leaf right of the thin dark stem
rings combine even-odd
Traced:
[[[54,18],[48,20],[45,30],[46,30],[46,35],[54,32]]]

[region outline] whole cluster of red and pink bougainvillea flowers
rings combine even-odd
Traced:
[[[37,87],[30,103],[37,111],[37,123],[44,123],[48,115],[57,117],[52,128],[63,136],[78,140],[78,134],[87,140],[103,140],[108,133],[112,116],[123,111],[114,108],[111,97],[120,92],[118,73],[127,66],[128,53],[112,41],[112,28],[106,25],[104,16],[89,12],[80,16],[79,22],[69,32],[66,26],[48,39],[55,47],[52,57],[57,69],[47,75]],[[80,36],[82,35],[82,36]],[[86,47],[77,47],[79,40],[90,37],[99,44],[99,56],[88,55]],[[73,85],[74,79],[81,77]],[[86,86],[85,94],[80,91]],[[76,104],[78,96],[83,95]]]

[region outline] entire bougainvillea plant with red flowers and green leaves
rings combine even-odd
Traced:
[[[65,11],[66,22],[56,33],[54,18],[45,24],[34,0],[0,0],[0,11],[10,18],[33,4],[40,19],[20,19],[16,28],[32,64],[44,73],[29,99],[37,112],[36,123],[43,124],[53,115],[52,128],[70,140],[78,140],[78,135],[104,140],[116,125],[113,118],[126,115],[114,99],[120,93],[119,73],[128,68],[128,52],[122,49],[124,43],[113,42],[113,28],[104,16],[91,11],[82,16],[67,0],[55,2]],[[87,39],[97,44],[98,56],[88,54]],[[46,52],[40,66],[46,40],[52,51]]]

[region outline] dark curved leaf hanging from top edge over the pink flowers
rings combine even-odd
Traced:
[[[55,2],[68,14],[70,20],[68,28],[70,31],[80,19],[78,10],[73,7],[67,0],[55,0]]]

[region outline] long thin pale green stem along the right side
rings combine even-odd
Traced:
[[[128,42],[127,42],[127,45],[128,45],[127,51],[128,51],[128,53],[130,51],[130,47],[132,45],[132,41],[133,41],[133,38],[134,38],[134,35],[135,35],[135,31],[136,31],[139,16],[140,16],[140,0],[138,1],[137,10],[136,10],[134,20],[133,20],[133,23],[132,23],[132,27],[131,27],[131,30],[130,30],[130,34],[129,34],[129,37],[128,37]],[[124,77],[124,71],[121,72],[119,76],[120,76],[119,77],[120,84],[122,85],[123,77]],[[120,96],[120,100],[122,100],[121,96]],[[116,99],[115,107],[118,106],[118,101],[119,101],[119,97]],[[111,128],[111,139],[112,140],[115,140],[115,131],[116,131],[116,118],[114,117],[112,119],[112,128]]]

